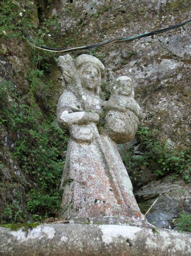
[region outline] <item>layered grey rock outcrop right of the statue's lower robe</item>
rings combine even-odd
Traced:
[[[182,210],[191,214],[191,184],[181,178],[171,181],[171,177],[166,176],[152,181],[139,189],[135,196],[143,213],[157,199],[147,214],[147,220],[156,227],[173,228],[174,219]]]

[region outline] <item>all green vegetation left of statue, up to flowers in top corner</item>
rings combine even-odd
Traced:
[[[67,134],[55,122],[55,96],[59,96],[61,90],[58,82],[53,82],[50,77],[49,70],[55,61],[49,61],[48,58],[53,59],[51,53],[29,48],[21,33],[21,29],[32,31],[36,28],[33,25],[33,20],[37,19],[35,6],[33,2],[24,0],[0,3],[0,32],[3,34],[0,42],[6,44],[6,39],[11,38],[12,42],[20,39],[21,45],[29,52],[24,73],[20,72],[26,86],[11,78],[1,78],[0,136],[4,138],[7,132],[11,134],[14,140],[11,157],[34,182],[34,186],[25,188],[24,204],[22,192],[15,190],[17,180],[11,177],[14,183],[10,183],[5,179],[2,170],[7,166],[0,162],[1,223],[39,221],[48,216],[57,216],[60,206],[58,189],[64,167],[61,154],[66,151]],[[36,32],[41,40],[43,32]],[[12,50],[2,52],[3,57],[11,55]]]

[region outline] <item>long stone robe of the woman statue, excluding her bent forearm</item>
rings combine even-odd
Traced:
[[[57,106],[59,125],[62,126],[63,111],[101,114],[102,105],[98,95],[83,93],[77,98],[74,92],[64,90]],[[60,185],[61,216],[66,219],[143,217],[116,143],[104,131],[98,131],[94,122],[74,123],[66,128],[70,138]]]

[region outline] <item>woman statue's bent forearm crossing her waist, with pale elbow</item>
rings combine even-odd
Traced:
[[[86,125],[90,122],[98,123],[100,121],[100,116],[95,112],[78,111],[69,113],[65,110],[60,117],[58,116],[57,121],[61,128],[69,128],[74,124]]]

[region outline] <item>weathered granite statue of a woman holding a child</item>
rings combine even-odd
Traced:
[[[61,217],[80,223],[145,221],[114,142],[130,141],[142,117],[131,80],[118,78],[111,98],[104,102],[100,84],[105,67],[100,60],[86,54],[75,60],[65,55],[58,58],[58,66],[66,88],[57,105],[57,121],[70,133],[60,185]],[[103,108],[108,112],[105,128],[99,133]]]

